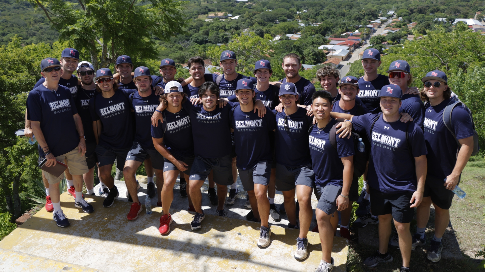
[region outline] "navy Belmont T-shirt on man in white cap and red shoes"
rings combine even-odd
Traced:
[[[185,109],[172,113],[163,111],[166,118],[166,131],[160,120],[158,126],[151,126],[151,136],[157,139],[163,138],[168,150],[178,158],[194,156],[194,138],[192,136],[192,123]]]

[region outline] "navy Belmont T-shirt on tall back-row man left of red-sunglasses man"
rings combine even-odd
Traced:
[[[372,81],[365,81],[364,77],[360,77],[359,83],[359,93],[357,96],[364,103],[364,105],[371,112],[377,113],[381,112],[381,106],[379,105],[379,92],[382,87],[389,84],[389,78],[384,75],[377,75],[377,77]]]

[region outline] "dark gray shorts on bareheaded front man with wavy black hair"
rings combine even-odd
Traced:
[[[205,181],[210,171],[214,175],[214,182],[219,185],[231,185],[232,180],[232,157],[226,155],[222,158],[202,158],[196,156],[190,169],[191,181]]]

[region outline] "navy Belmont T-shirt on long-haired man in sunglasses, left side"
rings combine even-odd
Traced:
[[[93,121],[101,120],[102,123],[99,145],[127,149],[133,144],[133,116],[128,96],[134,91],[118,89],[110,98],[99,93],[89,101]]]

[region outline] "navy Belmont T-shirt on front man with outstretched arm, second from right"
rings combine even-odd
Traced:
[[[414,122],[404,123],[398,120],[389,123],[380,114],[371,133],[372,122],[377,115],[368,113],[352,119],[355,128],[365,129],[371,139],[367,172],[369,185],[387,194],[414,192],[418,182],[413,157],[427,153],[423,131]],[[406,127],[411,151],[406,142]]]

